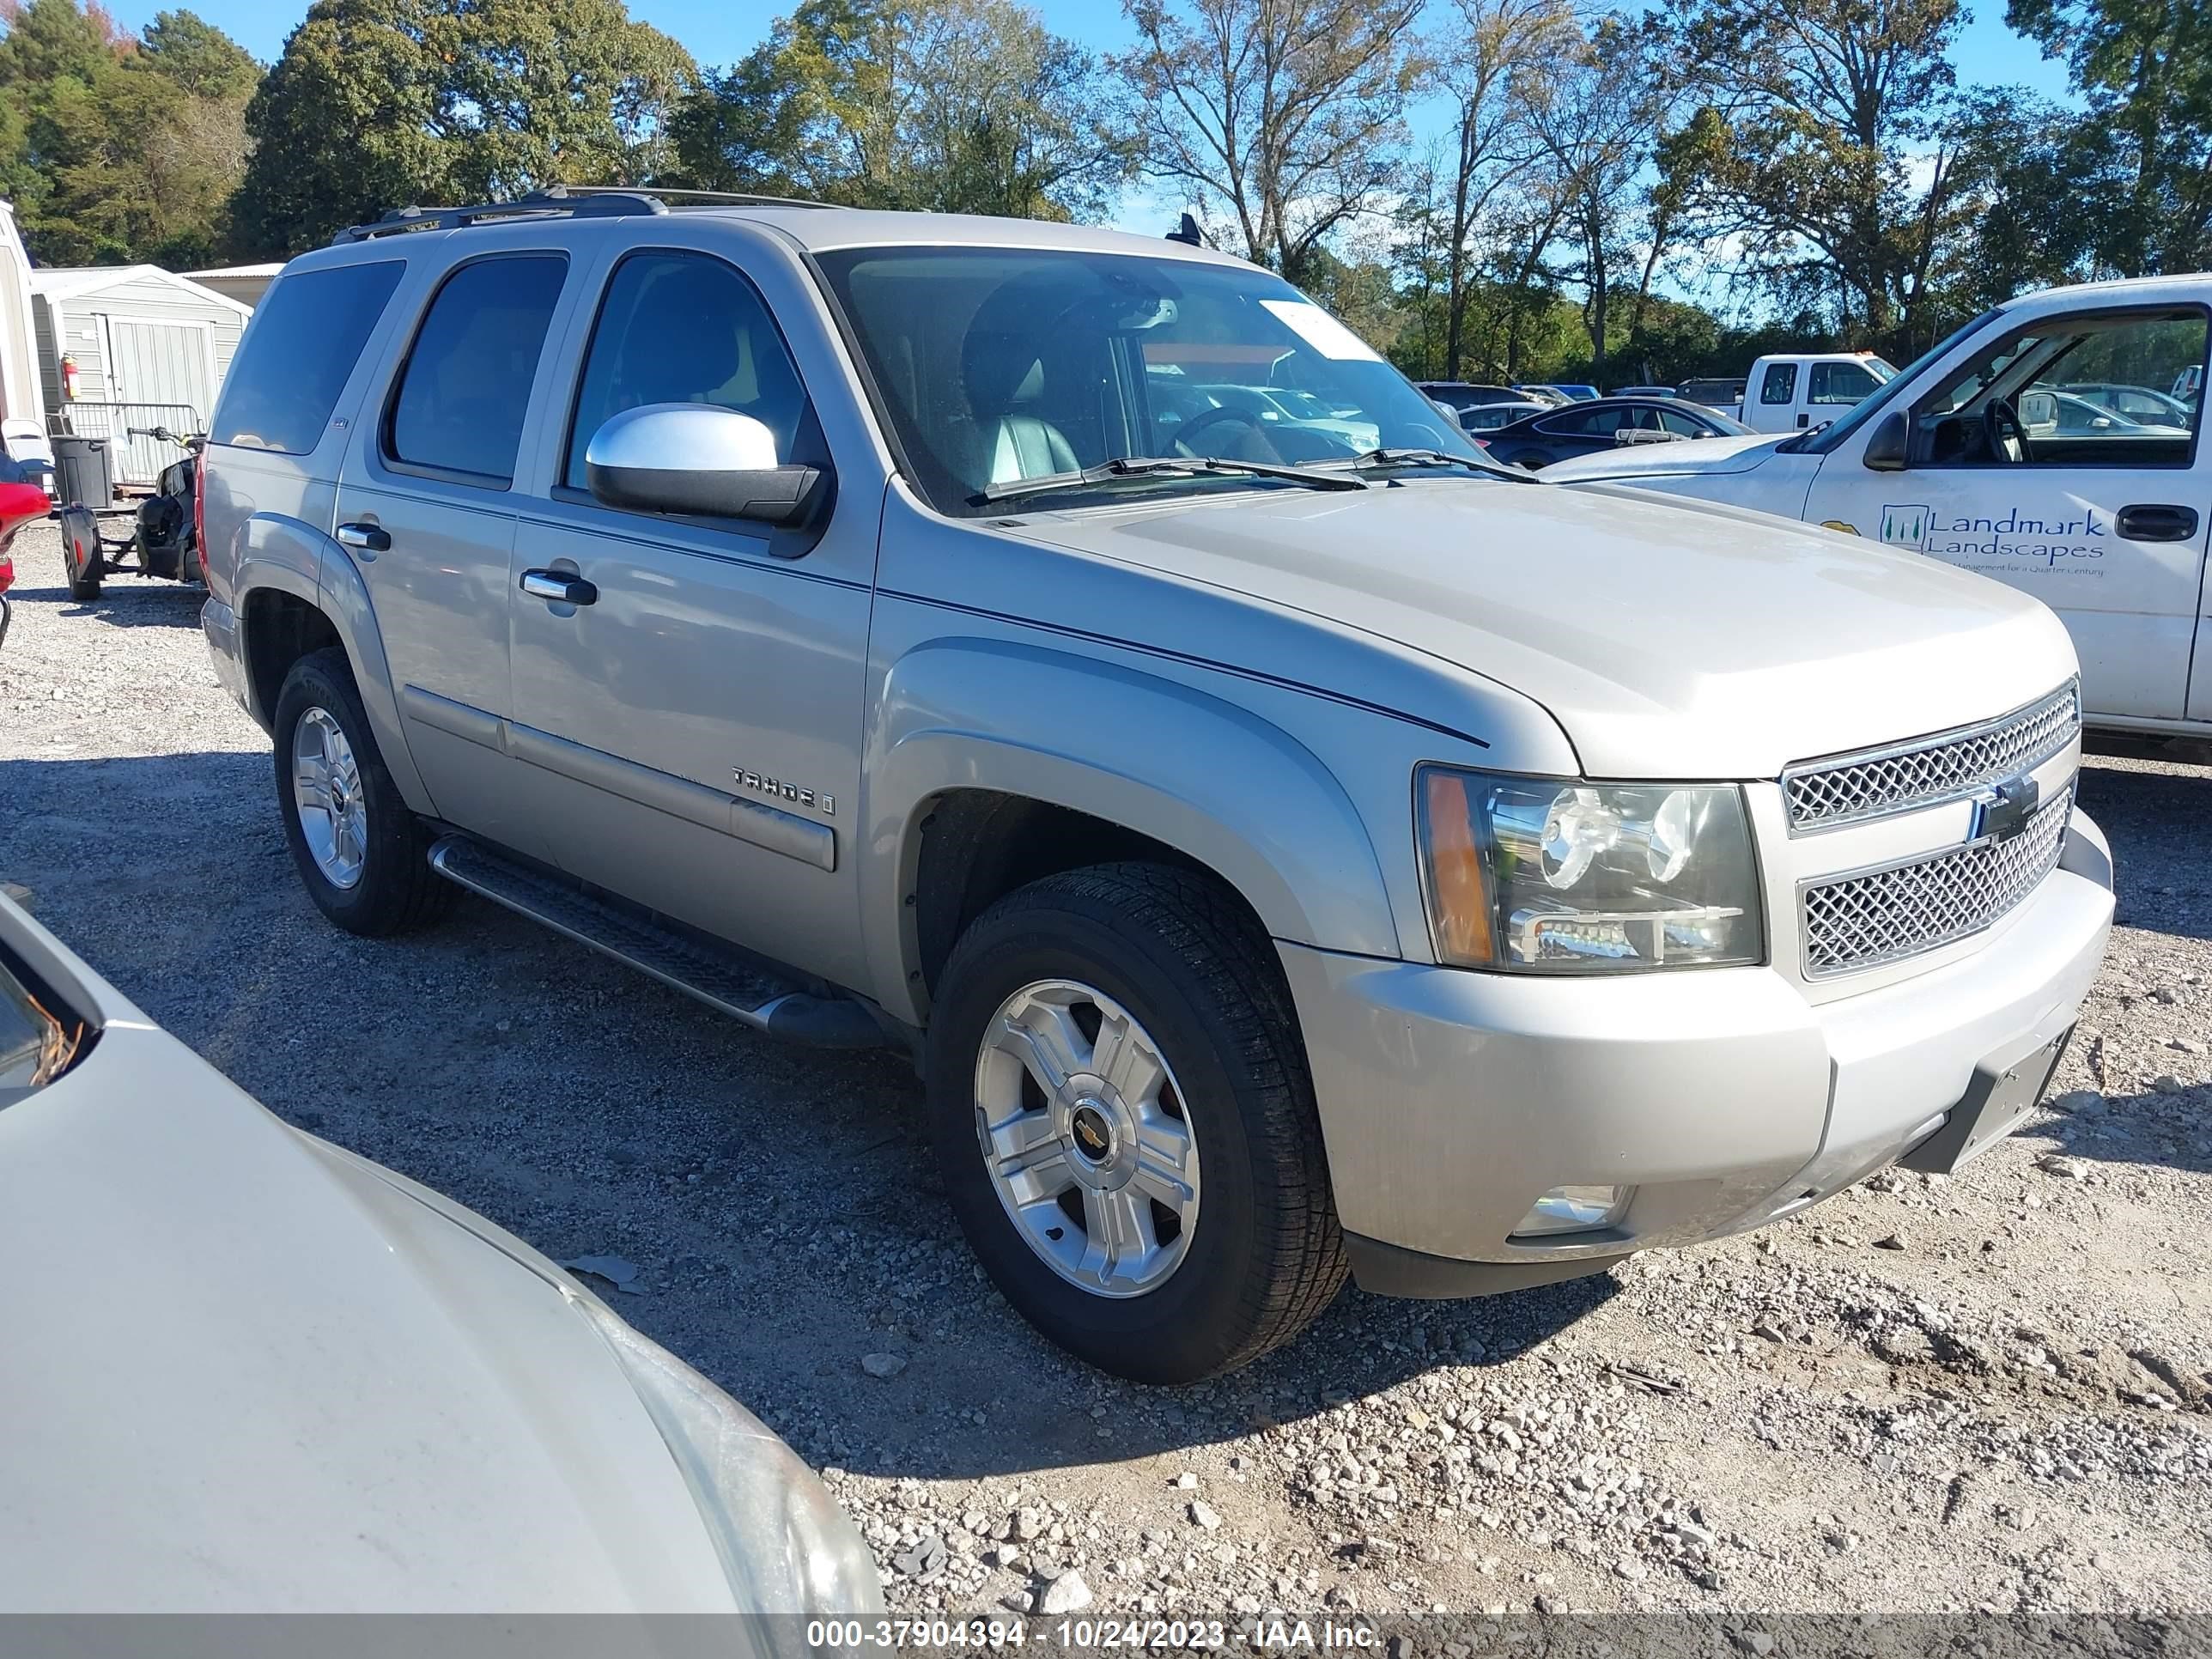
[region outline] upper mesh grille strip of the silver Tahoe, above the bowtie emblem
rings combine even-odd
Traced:
[[[1783,772],[1790,832],[1832,830],[1865,818],[1958,801],[2048,761],[2081,730],[2081,692],[2059,686],[2039,703],[1980,726],[1911,743],[1801,761]]]

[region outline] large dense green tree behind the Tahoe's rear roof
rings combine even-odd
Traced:
[[[246,111],[237,237],[274,257],[409,204],[639,184],[695,75],[622,0],[314,0]]]

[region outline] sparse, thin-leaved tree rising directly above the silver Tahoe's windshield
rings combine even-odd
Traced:
[[[1243,252],[1303,281],[1323,241],[1385,204],[1422,64],[1420,0],[1124,0],[1113,58],[1144,170],[1219,208]]]

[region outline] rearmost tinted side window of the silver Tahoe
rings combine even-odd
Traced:
[[[223,380],[208,438],[307,456],[407,265],[332,265],[279,276]]]

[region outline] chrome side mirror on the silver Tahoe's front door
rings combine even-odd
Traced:
[[[712,403],[624,409],[591,436],[584,478],[608,507],[761,524],[803,524],[827,482],[783,465],[761,420]]]

